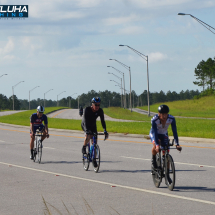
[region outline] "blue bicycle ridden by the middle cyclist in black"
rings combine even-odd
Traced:
[[[93,160],[95,160],[97,163],[97,166],[94,167],[94,172],[97,173],[99,171],[101,154],[100,154],[99,145],[97,144],[98,135],[104,135],[104,133],[93,133],[92,145],[90,146],[90,141],[89,141],[86,147],[86,154],[83,154],[83,167],[85,171],[89,169],[90,162],[92,162]],[[106,140],[106,138],[104,138],[104,140]]]

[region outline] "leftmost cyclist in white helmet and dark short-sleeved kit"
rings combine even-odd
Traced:
[[[47,116],[45,114],[43,114],[43,112],[45,111],[43,106],[38,106],[37,107],[37,113],[33,113],[31,115],[31,120],[30,120],[30,137],[31,137],[31,141],[30,141],[30,151],[31,151],[31,155],[30,155],[30,159],[33,160],[34,156],[33,156],[33,148],[34,148],[34,140],[35,140],[35,133],[36,130],[39,129],[39,131],[43,131],[43,136],[41,138],[41,141],[43,141],[46,137],[49,138],[49,132],[48,132],[48,119]],[[43,125],[43,122],[45,126]]]

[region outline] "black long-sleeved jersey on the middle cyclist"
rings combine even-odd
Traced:
[[[104,120],[104,112],[101,108],[98,111],[93,112],[92,108],[86,107],[84,109],[84,116],[82,118],[81,127],[85,132],[97,132],[96,119],[100,116],[102,127],[106,131],[106,124]]]

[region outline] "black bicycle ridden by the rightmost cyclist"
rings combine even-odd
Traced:
[[[152,167],[151,172],[155,187],[159,187],[162,182],[162,178],[165,178],[165,184],[171,191],[175,187],[175,165],[172,156],[169,154],[169,146],[173,146],[173,144],[174,140],[172,141],[172,144],[169,142],[164,149],[159,150],[159,153],[156,154],[157,168],[155,169]],[[164,155],[162,156],[161,151],[164,151]]]

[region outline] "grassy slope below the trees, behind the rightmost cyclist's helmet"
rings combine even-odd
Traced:
[[[190,99],[184,101],[164,102],[170,108],[170,114],[173,116],[186,117],[204,117],[215,118],[215,96],[205,96],[200,99]],[[161,103],[150,106],[152,112],[158,110]],[[147,106],[138,107],[143,110],[148,110]]]

